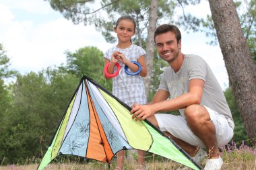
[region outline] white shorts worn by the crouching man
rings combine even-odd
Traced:
[[[218,114],[210,108],[205,108],[210,114],[211,121],[215,126],[218,147],[224,146],[231,140],[234,134],[233,129],[228,125],[228,121],[223,115]],[[169,132],[176,138],[179,138],[193,146],[205,148],[203,142],[193,134],[189,126],[187,126],[185,118],[182,116],[174,116],[172,114],[155,114],[155,117],[162,132]]]

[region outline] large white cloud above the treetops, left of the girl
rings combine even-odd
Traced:
[[[5,15],[3,12],[9,16],[14,15],[7,6],[5,11],[1,11]],[[9,17],[1,26],[0,37],[3,38],[1,43],[7,50],[7,56],[11,58],[11,67],[21,73],[40,71],[65,63],[66,50],[75,52],[84,46],[97,46],[104,52],[113,46],[107,44],[93,26],[74,25],[61,15],[42,24],[26,18],[15,21],[14,17]]]

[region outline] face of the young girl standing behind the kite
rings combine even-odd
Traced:
[[[121,20],[114,31],[117,33],[119,42],[130,42],[131,37],[135,34],[134,24],[128,19]]]

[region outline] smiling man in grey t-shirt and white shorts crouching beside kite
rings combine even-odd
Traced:
[[[220,169],[223,161],[218,147],[232,138],[234,122],[216,77],[203,58],[181,52],[181,32],[176,26],[159,26],[154,41],[158,54],[170,67],[164,70],[152,101],[133,104],[132,118],[147,118],[195,161],[205,148],[205,170]],[[157,114],[174,110],[179,110],[181,116]]]

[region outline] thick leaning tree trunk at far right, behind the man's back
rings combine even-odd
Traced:
[[[232,0],[209,0],[230,86],[249,138],[256,138],[256,67]]]

